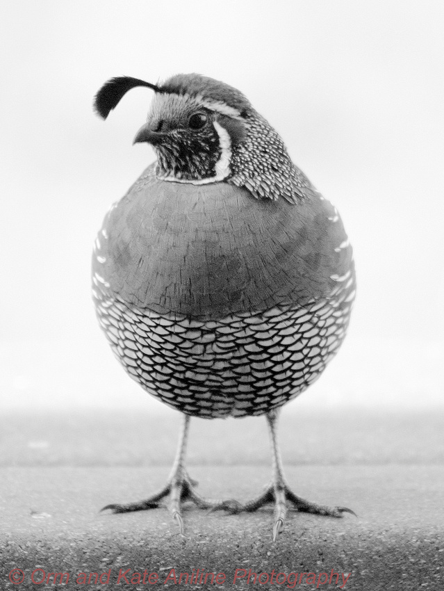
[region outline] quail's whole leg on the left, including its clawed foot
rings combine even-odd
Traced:
[[[190,428],[190,416],[184,414],[181,434],[179,436],[179,444],[177,446],[176,458],[170,476],[168,477],[167,484],[161,490],[152,494],[148,499],[144,501],[137,501],[135,503],[127,503],[125,505],[119,505],[112,503],[106,505],[102,511],[110,509],[113,513],[126,513],[131,511],[143,511],[147,509],[155,509],[161,506],[161,502],[165,497],[170,497],[169,509],[172,519],[176,521],[179,526],[180,532],[183,533],[183,519],[181,513],[181,503],[183,501],[192,501],[201,509],[211,509],[215,505],[220,505],[221,501],[213,499],[204,499],[195,492],[194,487],[197,486],[197,482],[192,480],[186,471],[185,467],[185,455],[186,446],[188,443],[188,432]]]

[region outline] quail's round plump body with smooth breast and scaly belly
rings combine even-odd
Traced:
[[[296,204],[151,165],[107,214],[97,316],[126,371],[186,414],[263,414],[300,394],[345,337],[352,248],[313,189]]]

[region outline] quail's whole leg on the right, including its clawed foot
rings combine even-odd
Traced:
[[[283,476],[281,453],[279,452],[279,446],[277,444],[278,415],[279,410],[272,410],[266,415],[272,448],[272,480],[270,484],[265,487],[264,492],[257,496],[256,499],[247,501],[247,503],[223,501],[220,505],[213,507],[212,510],[224,509],[231,513],[239,513],[242,511],[252,512],[263,507],[263,505],[274,502],[274,541],[276,541],[277,535],[282,530],[288,510],[288,503],[290,503],[290,508],[293,508],[294,510],[313,513],[315,515],[327,515],[329,517],[342,517],[343,513],[352,513],[353,515],[356,515],[354,511],[347,509],[347,507],[328,507],[327,505],[311,503],[311,501],[306,501],[305,499],[302,499],[302,497],[297,496],[290,489]]]

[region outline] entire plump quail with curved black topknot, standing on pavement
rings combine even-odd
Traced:
[[[296,496],[276,440],[279,408],[313,383],[345,337],[355,293],[352,248],[338,211],[288,156],[241,92],[199,74],[161,86],[127,76],[106,82],[106,118],[135,86],[154,90],[134,142],[157,155],[111,207],[92,257],[94,303],[131,378],[184,414],[167,485],[114,512],[157,507],[170,496],[231,512],[274,502],[273,537],[287,505],[340,517],[352,512]],[[265,414],[272,482],[247,503],[209,501],[185,469],[190,416]]]

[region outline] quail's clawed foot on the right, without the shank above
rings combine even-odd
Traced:
[[[242,511],[256,511],[264,505],[268,505],[268,503],[274,503],[274,542],[282,531],[288,508],[305,513],[313,513],[314,515],[326,515],[328,517],[343,517],[343,513],[352,513],[356,517],[356,513],[347,507],[329,507],[306,501],[302,497],[297,496],[286,483],[270,483],[270,485],[265,487],[265,491],[261,495],[257,496],[256,499],[247,501],[247,503],[239,503],[230,499],[211,507],[211,510],[225,510],[235,515]]]

